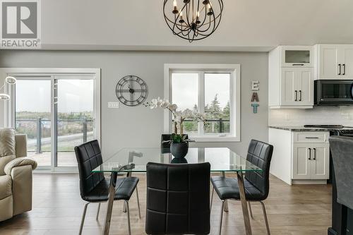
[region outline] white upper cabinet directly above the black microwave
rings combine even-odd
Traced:
[[[317,44],[315,79],[353,79],[353,45]]]

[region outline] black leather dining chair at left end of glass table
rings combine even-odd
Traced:
[[[99,203],[97,211],[98,219],[100,203],[108,200],[109,180],[104,178],[104,174],[102,172],[92,172],[93,169],[99,167],[100,164],[102,164],[102,154],[100,151],[100,145],[97,140],[92,140],[90,142],[76,146],[75,153],[78,162],[78,173],[80,176],[80,195],[81,198],[87,202],[83,210],[80,224],[79,234],[82,234],[87,206],[90,203]],[[128,234],[131,234],[128,200],[131,198],[131,195],[133,194],[137,184],[138,178],[136,177],[119,178],[116,180],[114,200],[124,200],[126,203],[128,216]],[[138,210],[140,210],[140,206],[138,206]],[[140,215],[140,212],[138,215]]]

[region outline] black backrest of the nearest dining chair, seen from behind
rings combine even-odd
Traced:
[[[210,164],[147,164],[147,234],[209,234]]]

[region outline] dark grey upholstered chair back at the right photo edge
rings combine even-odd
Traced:
[[[353,209],[353,138],[331,136],[330,149],[335,168],[337,202]]]

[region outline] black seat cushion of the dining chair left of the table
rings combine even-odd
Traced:
[[[83,200],[88,202],[106,201],[109,197],[110,181],[104,179],[93,188],[90,193],[87,193]],[[116,190],[114,200],[129,200],[138,183],[136,177],[119,178],[116,180]]]

